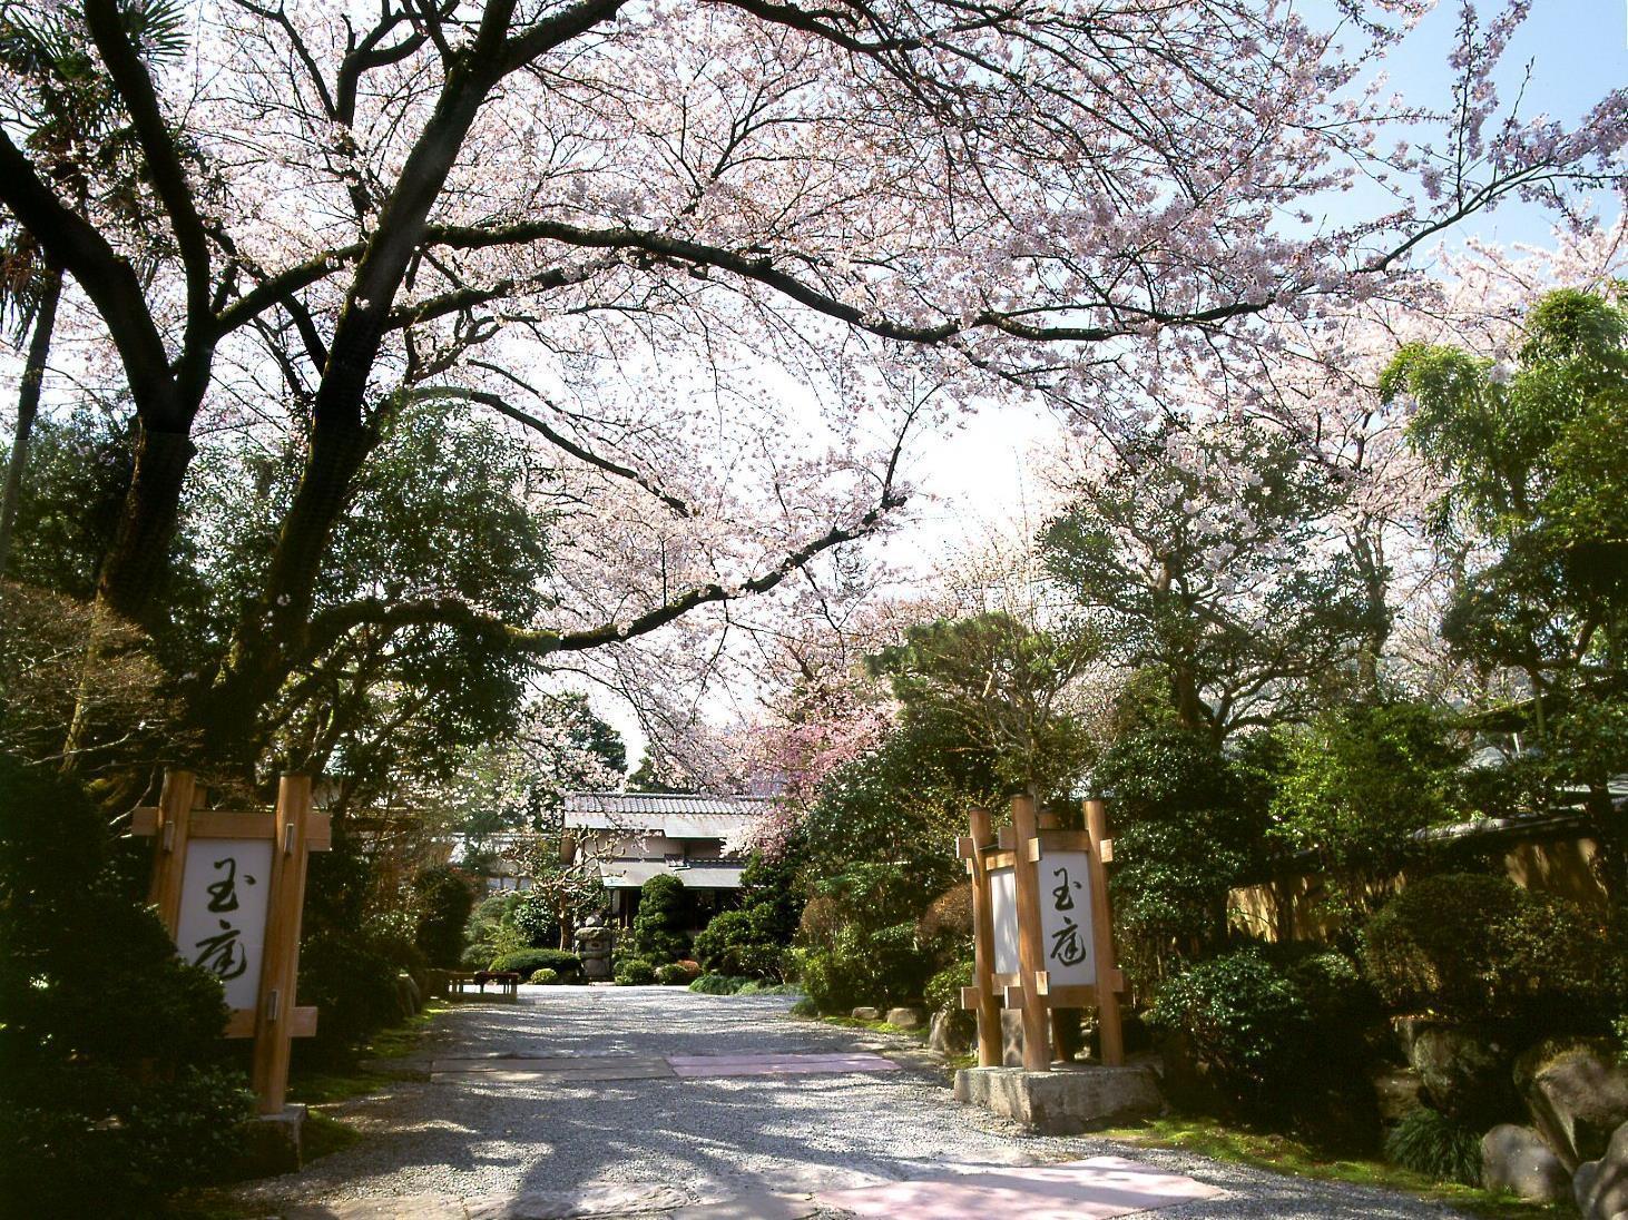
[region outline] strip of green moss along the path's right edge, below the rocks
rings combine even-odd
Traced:
[[[1407,1191],[1433,1202],[1449,1204],[1488,1220],[1560,1220],[1578,1215],[1565,1204],[1527,1204],[1511,1194],[1481,1191],[1455,1183],[1434,1183],[1410,1170],[1372,1160],[1327,1160],[1288,1135],[1231,1127],[1203,1118],[1151,1119],[1140,1127],[1117,1127],[1101,1132],[1107,1139],[1144,1148],[1180,1148],[1218,1161],[1250,1165],[1296,1178],[1379,1186]]]

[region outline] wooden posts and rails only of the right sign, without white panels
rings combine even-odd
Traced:
[[[1125,1036],[1120,1023],[1118,994],[1125,976],[1114,956],[1114,924],[1109,903],[1107,864],[1114,861],[1114,841],[1107,836],[1107,808],[1101,800],[1084,802],[1086,830],[1057,830],[1050,818],[1039,818],[1034,799],[1013,797],[1013,825],[996,834],[990,812],[975,808],[969,817],[969,836],[957,843],[972,878],[974,969],[972,986],[961,992],[961,1007],[978,1015],[978,1065],[1001,1065],[1001,1009],[1022,1013],[1022,1065],[1031,1072],[1052,1067],[1053,1009],[1096,1009],[1102,1062],[1120,1067],[1125,1062]],[[1084,852],[1091,878],[1091,940],[1096,961],[1094,984],[1052,984],[1045,969],[1045,945],[1040,922],[1040,862],[1047,849]],[[995,969],[995,901],[990,874],[1011,869],[1016,890],[1017,971]]]

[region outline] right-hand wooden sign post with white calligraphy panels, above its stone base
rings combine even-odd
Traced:
[[[1125,1062],[1114,961],[1107,865],[1114,844],[1101,800],[1086,802],[1086,830],[1042,826],[1034,799],[1013,797],[1013,825],[990,831],[974,810],[959,843],[972,875],[974,986],[961,1004],[978,1013],[978,1065],[1000,1064],[1001,1009],[1022,1013],[1024,1069],[1050,1070],[1053,1009],[1096,1009],[1102,1062]]]

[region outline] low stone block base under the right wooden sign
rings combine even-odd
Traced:
[[[1159,1077],[1143,1064],[1058,1064],[1048,1072],[962,1067],[956,1072],[956,1100],[991,1109],[1040,1135],[1078,1135],[1164,1111]]]

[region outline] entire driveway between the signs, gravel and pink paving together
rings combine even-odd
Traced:
[[[1158,1220],[1457,1215],[1411,1196],[1190,1153],[1026,1135],[956,1105],[944,1072],[913,1044],[796,1020],[790,1004],[682,987],[521,987],[518,1004],[461,1004],[436,1018],[430,1059],[392,1065],[415,1078],[330,1109],[363,1140],[296,1174],[251,1183],[239,1197],[283,1220],[801,1220],[850,1215],[816,1192],[873,1187],[873,1199],[895,1200],[892,1212],[845,1197],[866,1215],[947,1220],[956,1213],[928,1189],[941,1179],[978,1183],[991,1191],[988,1215],[1017,1215],[993,1191],[1017,1183],[1022,1166],[1058,1179],[1102,1173],[1109,1163],[1092,1170],[1092,1158],[1110,1157],[1128,1158],[1130,1173],[1190,1176],[1219,1191],[1143,1212]],[[728,1065],[876,1052],[899,1070],[674,1078],[674,1062],[700,1057]],[[926,1210],[912,1210],[912,1197]]]

